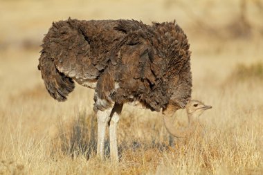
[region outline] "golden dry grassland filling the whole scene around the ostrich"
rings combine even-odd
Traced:
[[[0,174],[263,174],[263,1],[0,0]],[[96,158],[93,90],[56,102],[37,70],[52,21],[176,19],[192,50],[203,129],[169,138],[161,114],[125,105],[120,163]],[[185,111],[176,112],[185,125]],[[107,147],[109,145],[107,144]],[[108,152],[109,149],[107,149]]]

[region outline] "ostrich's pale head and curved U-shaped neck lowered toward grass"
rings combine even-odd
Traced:
[[[170,121],[170,116],[165,115],[163,113],[163,122],[165,124],[165,127],[167,131],[174,137],[177,138],[185,138],[186,136],[190,136],[196,127],[196,123],[194,122],[194,119],[197,119],[203,111],[206,111],[207,109],[211,109],[212,106],[203,104],[203,102],[200,102],[198,100],[190,100],[188,104],[186,105],[186,111],[188,113],[188,127],[185,129],[176,129],[173,125],[172,122]]]

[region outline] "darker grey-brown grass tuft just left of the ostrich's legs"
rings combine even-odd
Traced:
[[[94,136],[93,116],[80,112],[69,125],[60,122],[58,136],[53,149],[59,148],[62,154],[75,158],[84,156],[89,159],[96,152],[96,136]]]

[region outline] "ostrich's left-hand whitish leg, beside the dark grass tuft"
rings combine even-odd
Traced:
[[[111,115],[110,109],[105,109],[105,111],[97,111],[97,118],[98,118],[98,142],[97,142],[97,156],[100,158],[104,158],[105,152],[105,131],[107,127],[107,123],[110,120]]]

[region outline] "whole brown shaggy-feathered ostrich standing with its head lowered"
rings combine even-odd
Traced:
[[[188,38],[175,21],[145,25],[135,20],[69,18],[53,23],[43,42],[38,69],[55,100],[65,101],[74,82],[95,89],[97,156],[104,157],[109,126],[111,159],[118,160],[116,132],[126,102],[162,111],[165,127],[174,136],[187,136],[192,130],[187,127],[181,133],[167,117],[186,104],[190,109],[194,102]],[[209,108],[202,105],[201,112]]]

